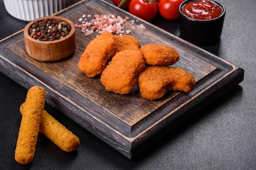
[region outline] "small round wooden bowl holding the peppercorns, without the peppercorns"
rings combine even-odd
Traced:
[[[70,33],[56,41],[38,41],[29,36],[29,28],[35,22],[44,21],[45,19],[54,19],[58,22],[67,22],[71,26]],[[24,39],[27,53],[34,59],[40,61],[57,61],[70,56],[76,49],[76,29],[72,21],[64,17],[47,16],[40,17],[29,22],[24,28]]]

